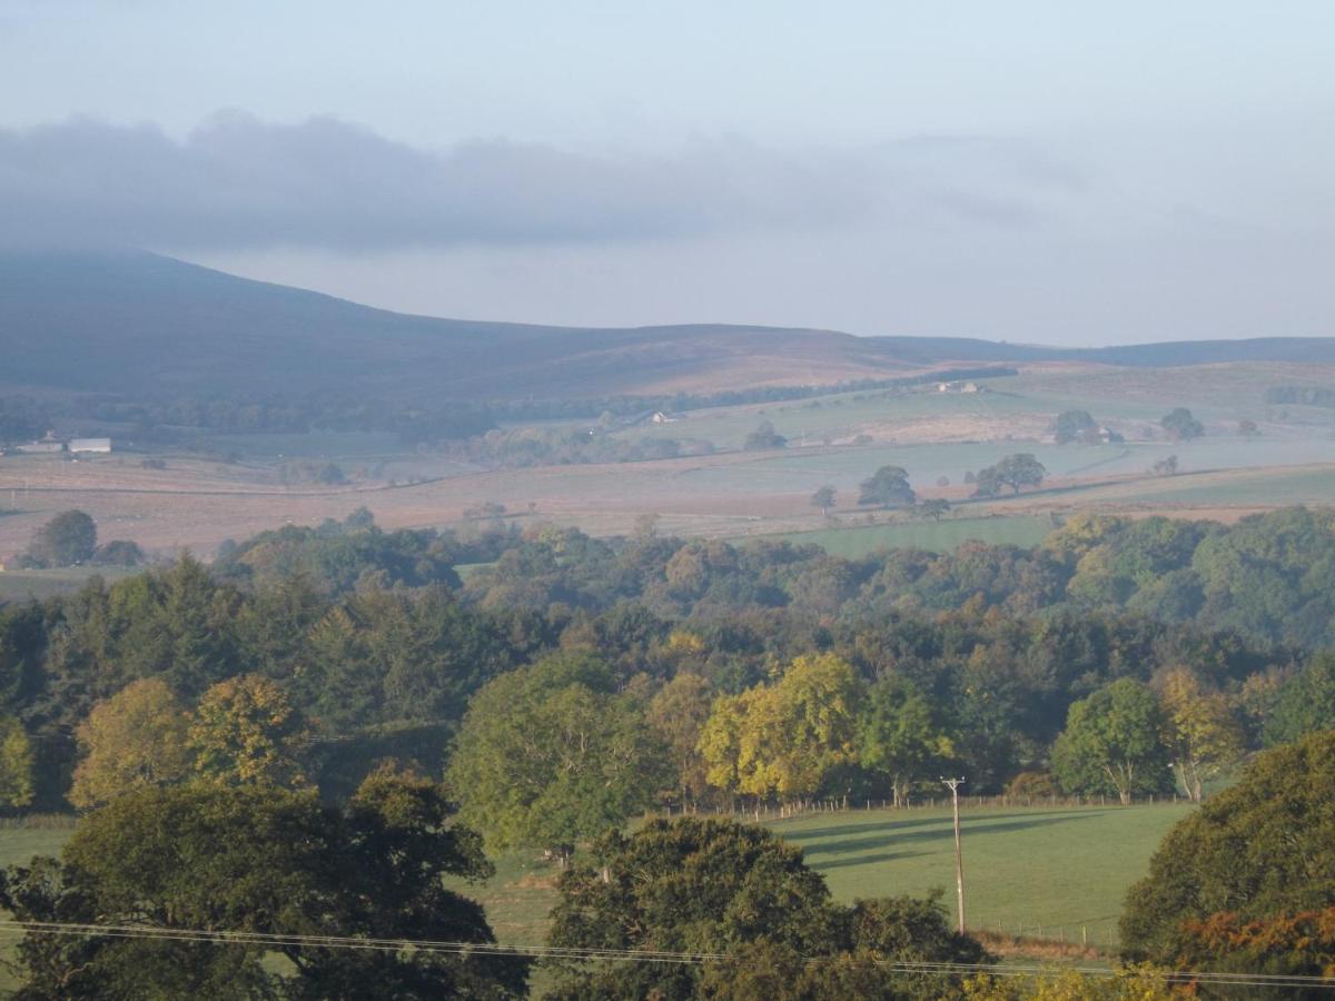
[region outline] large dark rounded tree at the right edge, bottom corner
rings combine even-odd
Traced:
[[[1176,965],[1191,956],[1214,969],[1230,962],[1228,953],[1200,956],[1188,922],[1220,914],[1263,921],[1328,908],[1335,900],[1331,789],[1335,731],[1259,754],[1236,785],[1168,831],[1148,876],[1128,892],[1121,918],[1127,957]],[[1278,965],[1267,972],[1290,970]]]

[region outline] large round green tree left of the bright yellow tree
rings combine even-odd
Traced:
[[[673,782],[643,710],[607,667],[559,654],[503,674],[469,703],[446,781],[495,849],[577,842],[618,827]]]

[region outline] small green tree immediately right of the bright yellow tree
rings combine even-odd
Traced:
[[[868,689],[857,717],[857,762],[890,779],[896,806],[925,769],[949,753],[949,739],[913,682],[892,675]]]

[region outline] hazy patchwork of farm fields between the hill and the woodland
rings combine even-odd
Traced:
[[[1045,523],[1081,510],[1235,521],[1335,496],[1335,410],[1264,403],[1270,386],[1331,378],[1335,366],[1027,366],[1019,376],[987,380],[988,391],[977,394],[841,392],[619,427],[611,434],[630,440],[700,438],[720,448],[619,464],[503,468],[410,448],[392,435],[332,432],[218,435],[207,452],[155,455],[162,468],[146,467],[139,452],[79,462],[8,455],[0,456],[0,563],[23,551],[55,513],[72,507],[93,515],[100,539],[134,539],[156,558],[182,549],[208,558],[224,539],[283,523],[342,519],[363,506],[387,529],[467,533],[474,530],[467,511],[491,500],[503,503],[519,526],[550,521],[617,535],[651,514],[665,533],[793,537],[841,554],[885,545],[948,549],[968,538],[1032,545]],[[1207,436],[1164,439],[1157,420],[1176,404],[1193,408]],[[1125,442],[1053,444],[1053,415],[1075,406],[1089,408]],[[1242,419],[1255,420],[1259,436],[1239,435]],[[789,447],[740,450],[761,420],[772,420]],[[547,426],[582,430],[587,423]],[[972,499],[967,474],[1016,451],[1044,463],[1044,488]],[[1179,475],[1151,475],[1169,455],[1177,458]],[[339,464],[348,482],[312,482],[310,467],[322,463]],[[940,526],[884,511],[868,526],[857,487],[885,464],[902,466],[920,496],[945,498],[956,510]],[[826,483],[837,491],[834,519],[809,503]],[[12,573],[0,573],[0,599],[72,586],[59,577]]]

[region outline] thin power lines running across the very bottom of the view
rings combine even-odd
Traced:
[[[525,956],[530,958],[563,958],[563,960],[610,960],[623,962],[666,962],[701,965],[705,962],[732,962],[736,956],[728,953],[701,953],[701,952],[669,952],[654,949],[615,949],[615,948],[579,948],[554,945],[514,945],[506,946],[497,942],[462,942],[421,938],[362,938],[354,936],[312,936],[312,934],[280,934],[271,932],[227,932],[211,929],[180,929],[162,928],[152,925],[95,925],[56,921],[13,921],[0,920],[0,934],[39,933],[39,934],[67,934],[67,936],[99,936],[105,938],[140,938],[156,941],[184,941],[216,945],[255,945],[255,946],[283,946],[303,945],[319,949],[354,949],[379,952],[426,952],[445,954],[483,956]],[[814,962],[818,957],[804,957],[808,962]],[[1052,977],[1063,973],[1080,973],[1091,977],[1115,977],[1116,970],[1097,966],[1005,966],[996,968],[984,962],[910,962],[892,960],[873,960],[873,962],[888,970],[898,973],[918,974],[968,974],[985,973],[993,977]],[[1199,981],[1215,985],[1236,986],[1279,986],[1299,988],[1315,986],[1335,990],[1335,980],[1330,977],[1306,974],[1278,974],[1278,973],[1218,973],[1210,970],[1155,970],[1144,972],[1157,980],[1169,982]]]

